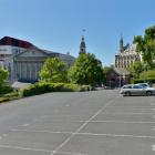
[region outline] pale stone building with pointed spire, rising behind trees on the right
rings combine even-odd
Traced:
[[[127,69],[136,61],[142,61],[142,55],[135,52],[136,44],[123,44],[123,38],[120,40],[120,52],[115,55],[115,68]]]

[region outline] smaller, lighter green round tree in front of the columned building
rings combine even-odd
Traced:
[[[59,58],[49,58],[40,72],[41,81],[68,82],[68,66]]]

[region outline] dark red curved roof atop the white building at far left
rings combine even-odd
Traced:
[[[33,46],[33,44],[28,41],[14,39],[11,37],[3,37],[0,40],[0,45],[12,45],[12,46],[19,46],[19,48],[24,48],[24,49],[29,49]]]

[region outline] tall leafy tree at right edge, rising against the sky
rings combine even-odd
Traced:
[[[142,53],[144,63],[154,68],[155,64],[155,25],[149,27],[145,30],[144,37],[137,35],[134,38],[134,43],[136,43],[136,52]]]

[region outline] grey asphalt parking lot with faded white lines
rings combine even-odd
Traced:
[[[155,155],[155,96],[102,90],[2,104],[0,155]]]

